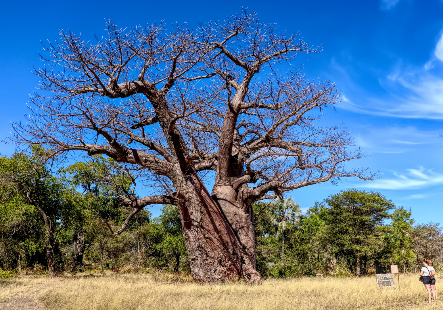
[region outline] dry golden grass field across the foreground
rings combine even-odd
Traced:
[[[437,278],[437,290],[442,280]],[[427,293],[416,275],[400,276],[400,290],[378,290],[375,277],[304,277],[268,279],[261,285],[198,285],[189,276],[161,274],[53,280],[23,276],[0,282],[0,301],[35,291],[35,287],[41,290],[36,297],[39,309],[48,310],[443,309],[443,298],[431,305],[424,303]]]

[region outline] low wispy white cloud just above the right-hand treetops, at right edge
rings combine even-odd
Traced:
[[[407,169],[406,173],[392,172],[389,177],[383,177],[375,181],[364,182],[359,187],[373,189],[417,189],[433,185],[443,184],[443,173],[434,172],[433,169]],[[420,198],[412,197],[411,198]]]

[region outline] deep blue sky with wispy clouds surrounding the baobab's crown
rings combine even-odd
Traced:
[[[411,208],[417,222],[443,223],[443,2],[373,1],[4,1],[0,11],[0,138],[22,121],[38,79],[40,41],[60,29],[100,34],[105,19],[120,27],[223,20],[255,9],[263,23],[300,31],[323,52],[299,59],[310,79],[342,92],[322,125],[346,125],[366,157],[351,163],[381,172],[375,181],[342,180],[292,191],[303,210],[342,189],[376,190]],[[14,147],[0,145],[2,155]],[[150,210],[158,214],[158,207]]]

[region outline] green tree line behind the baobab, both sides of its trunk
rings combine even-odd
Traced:
[[[0,268],[17,272],[167,270],[190,272],[180,212],[164,204],[153,218],[130,210],[130,173],[96,155],[51,173],[39,146],[0,157]],[[253,204],[256,270],[261,277],[364,276],[398,264],[416,272],[442,261],[442,229],[416,224],[412,211],[374,191],[349,189],[301,214],[291,198]],[[390,222],[389,222],[390,220]],[[115,234],[116,227],[126,229]]]

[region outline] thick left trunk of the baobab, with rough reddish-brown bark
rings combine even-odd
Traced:
[[[188,175],[177,199],[192,278],[199,283],[238,279],[237,238],[197,173]]]

